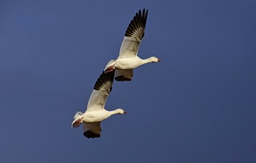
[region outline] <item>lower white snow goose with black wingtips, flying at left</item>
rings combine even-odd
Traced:
[[[110,73],[101,73],[97,79],[91,97],[84,113],[78,111],[74,116],[74,121],[71,124],[72,128],[84,124],[84,137],[96,138],[101,135],[101,121],[114,114],[125,114],[123,109],[116,109],[114,111],[107,111],[104,109],[108,94],[112,90],[112,83],[114,80],[114,71]]]

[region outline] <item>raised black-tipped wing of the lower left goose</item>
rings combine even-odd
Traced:
[[[103,73],[101,73],[89,98],[86,111],[95,111],[104,108],[108,94],[110,94],[112,90],[113,80],[114,71],[111,71],[110,73],[105,73],[103,71]]]

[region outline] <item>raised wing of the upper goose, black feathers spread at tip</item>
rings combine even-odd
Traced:
[[[148,10],[145,9],[137,12],[131,20],[123,39],[118,58],[131,58],[137,56],[140,42],[144,37],[146,28],[146,18]]]

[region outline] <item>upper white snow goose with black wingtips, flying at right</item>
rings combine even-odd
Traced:
[[[133,69],[148,62],[161,61],[155,56],[141,59],[137,55],[140,42],[144,37],[147,16],[148,10],[145,11],[145,9],[142,12],[139,10],[139,12],[135,14],[125,32],[125,38],[123,39],[118,58],[116,60],[110,60],[108,65],[106,65],[104,70],[106,73],[116,69],[116,81],[131,81]]]

